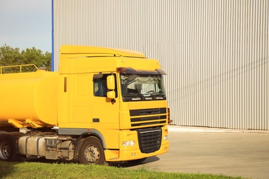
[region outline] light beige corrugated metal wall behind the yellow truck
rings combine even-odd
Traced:
[[[268,0],[54,0],[63,44],[159,59],[174,125],[269,129]]]

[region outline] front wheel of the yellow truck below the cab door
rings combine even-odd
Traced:
[[[103,146],[98,138],[90,136],[83,140],[79,149],[79,160],[85,165],[104,165]]]

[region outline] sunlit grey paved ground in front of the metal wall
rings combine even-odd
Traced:
[[[169,139],[167,154],[148,158],[141,165],[117,165],[130,169],[144,166],[168,172],[269,178],[269,132],[171,130]]]

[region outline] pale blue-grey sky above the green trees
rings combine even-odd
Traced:
[[[0,0],[0,47],[52,52],[51,0]]]

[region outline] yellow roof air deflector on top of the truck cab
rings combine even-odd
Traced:
[[[87,56],[126,56],[143,58],[146,56],[141,52],[134,50],[123,50],[117,48],[102,48],[94,46],[84,46],[84,45],[62,45],[61,54],[87,54]]]

